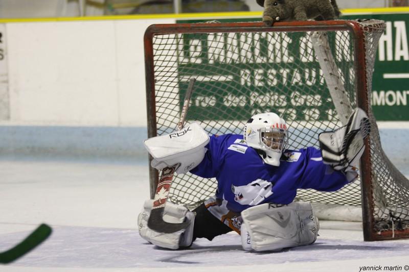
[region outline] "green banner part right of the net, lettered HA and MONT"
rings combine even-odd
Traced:
[[[409,120],[409,14],[343,16],[379,19],[387,24],[379,40],[372,79],[372,109],[377,120]]]

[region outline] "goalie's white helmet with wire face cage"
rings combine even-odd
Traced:
[[[244,140],[258,151],[264,162],[280,166],[280,158],[288,145],[285,120],[273,112],[253,115],[244,126]]]

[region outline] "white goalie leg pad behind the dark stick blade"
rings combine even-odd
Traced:
[[[169,223],[180,223],[187,220],[189,224],[186,229],[174,233],[161,233],[148,227],[152,205],[153,200],[145,201],[144,208],[138,216],[141,237],[154,245],[161,246],[161,248],[176,250],[190,246],[193,242],[194,214],[184,206],[167,202],[163,219]]]

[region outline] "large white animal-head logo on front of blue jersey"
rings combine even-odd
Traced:
[[[234,201],[241,205],[258,205],[272,195],[271,187],[271,182],[262,179],[257,179],[243,186],[234,186],[232,184]]]

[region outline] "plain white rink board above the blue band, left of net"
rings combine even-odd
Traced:
[[[173,21],[7,23],[9,122],[146,126],[143,35]]]

